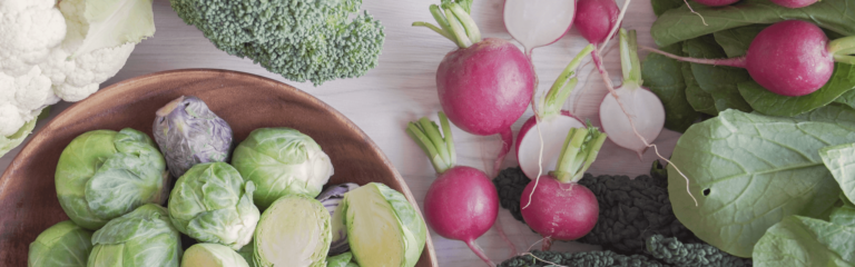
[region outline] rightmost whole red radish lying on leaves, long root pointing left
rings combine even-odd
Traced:
[[[696,59],[645,49],[687,62],[745,68],[757,83],[787,97],[805,96],[822,88],[832,78],[835,61],[855,63],[855,37],[829,42],[819,27],[800,20],[767,27],[754,38],[746,56],[738,58]]]

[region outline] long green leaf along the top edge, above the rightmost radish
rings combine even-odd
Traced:
[[[769,0],[744,0],[735,6],[691,6],[700,17],[689,12],[687,7],[671,9],[653,22],[650,34],[659,47],[706,36],[712,32],[748,24],[770,24],[778,21],[799,19],[816,23],[820,28],[843,36],[855,36],[855,4],[849,0],[823,0],[800,9],[789,9]]]

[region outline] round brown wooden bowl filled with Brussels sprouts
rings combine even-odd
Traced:
[[[0,177],[0,266],[436,266],[419,206],[321,100],[214,69],[115,83]]]

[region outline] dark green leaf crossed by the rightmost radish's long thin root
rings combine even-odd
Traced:
[[[702,36],[688,40],[684,44],[685,55],[692,58],[725,58],[725,51],[716,44],[712,36]],[[751,106],[739,95],[737,83],[750,80],[751,77],[745,69],[691,63],[691,73],[700,86],[714,100],[716,110],[738,109],[750,112]]]

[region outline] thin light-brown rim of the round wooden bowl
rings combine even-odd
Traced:
[[[33,141],[38,141],[38,140],[42,139],[43,137],[42,137],[41,134],[43,131],[52,130],[53,128],[56,128],[55,125],[58,123],[57,121],[60,121],[63,118],[66,118],[66,119],[71,118],[71,113],[77,113],[77,112],[83,111],[83,110],[78,110],[78,109],[82,109],[79,106],[81,106],[81,103],[83,103],[85,101],[88,101],[90,99],[92,99],[91,101],[95,101],[95,100],[98,100],[98,99],[105,99],[106,100],[106,99],[109,99],[111,97],[120,96],[121,92],[127,91],[127,90],[131,90],[134,88],[134,86],[132,86],[134,83],[144,81],[144,80],[148,80],[148,79],[153,79],[153,78],[158,78],[158,77],[164,77],[164,76],[185,75],[185,73],[191,73],[191,72],[203,72],[203,73],[206,73],[206,75],[212,75],[213,73],[215,77],[224,77],[226,75],[228,75],[228,76],[242,76],[242,77],[246,77],[246,78],[250,78],[250,79],[261,80],[261,81],[264,81],[264,82],[273,82],[273,83],[278,85],[278,87],[276,87],[276,88],[279,89],[279,90],[288,90],[288,91],[291,91],[291,92],[293,92],[293,93],[295,93],[295,95],[297,95],[297,96],[299,96],[302,98],[305,98],[305,99],[308,99],[308,100],[312,100],[312,101],[316,101],[324,109],[328,110],[330,113],[332,113],[333,117],[335,117],[336,120],[338,120],[340,122],[346,125],[348,128],[354,130],[356,134],[358,134],[363,138],[363,140],[368,145],[368,147],[371,147],[372,152],[374,155],[376,155],[382,160],[383,165],[385,165],[387,168],[390,168],[392,170],[394,179],[397,182],[400,182],[401,185],[403,185],[401,187],[403,189],[402,194],[404,194],[404,196],[407,198],[407,201],[410,201],[410,204],[413,206],[413,208],[415,208],[415,211],[417,211],[419,215],[422,218],[424,218],[424,214],[422,212],[421,208],[419,208],[419,202],[415,201],[415,197],[413,196],[412,191],[410,191],[410,186],[406,184],[406,181],[401,176],[401,174],[397,171],[397,169],[394,167],[394,165],[392,165],[392,162],[389,160],[386,155],[383,154],[383,151],[380,149],[380,147],[377,147],[376,144],[374,144],[374,140],[372,140],[358,126],[356,126],[353,121],[351,121],[351,119],[345,117],[337,109],[333,108],[332,106],[327,105],[323,100],[316,98],[315,96],[312,96],[311,93],[308,93],[306,91],[303,91],[301,89],[297,89],[296,87],[293,87],[293,86],[291,86],[288,83],[285,83],[285,82],[282,82],[282,81],[278,81],[278,80],[274,80],[274,79],[271,79],[271,78],[267,78],[267,77],[263,77],[263,76],[258,76],[258,75],[254,75],[254,73],[247,73],[247,72],[243,72],[243,71],[226,70],[226,69],[212,69],[212,68],[174,69],[174,70],[157,71],[157,72],[151,72],[151,73],[147,73],[147,75],[141,75],[141,76],[128,78],[128,79],[118,81],[116,83],[112,83],[112,85],[110,85],[110,86],[108,86],[106,88],[99,89],[98,91],[96,91],[91,96],[87,97],[86,99],[72,103],[71,106],[69,106],[68,108],[62,110],[60,113],[58,113],[56,117],[50,119],[38,131],[36,131],[33,134],[30,134],[31,138],[29,138],[29,140],[27,140],[23,144],[21,151],[18,152],[18,155],[14,156],[12,161],[9,164],[9,166],[3,171],[2,176],[0,176],[0,198],[2,198],[2,196],[6,192],[6,185],[7,185],[7,180],[9,179],[8,177],[11,176],[11,174],[16,172],[19,169],[19,166],[21,166],[21,165],[17,164],[17,162],[20,161],[20,160],[23,160],[24,158],[29,157],[30,154],[33,152],[35,148],[33,148],[33,146],[30,146],[30,144],[32,144]],[[428,253],[426,256],[429,257],[429,260],[432,264],[432,266],[439,266],[438,259],[436,259],[436,250],[433,247],[433,240],[431,239],[430,233],[428,233],[428,235],[426,235],[425,245],[424,246],[425,246],[425,249],[426,249],[426,253]]]

